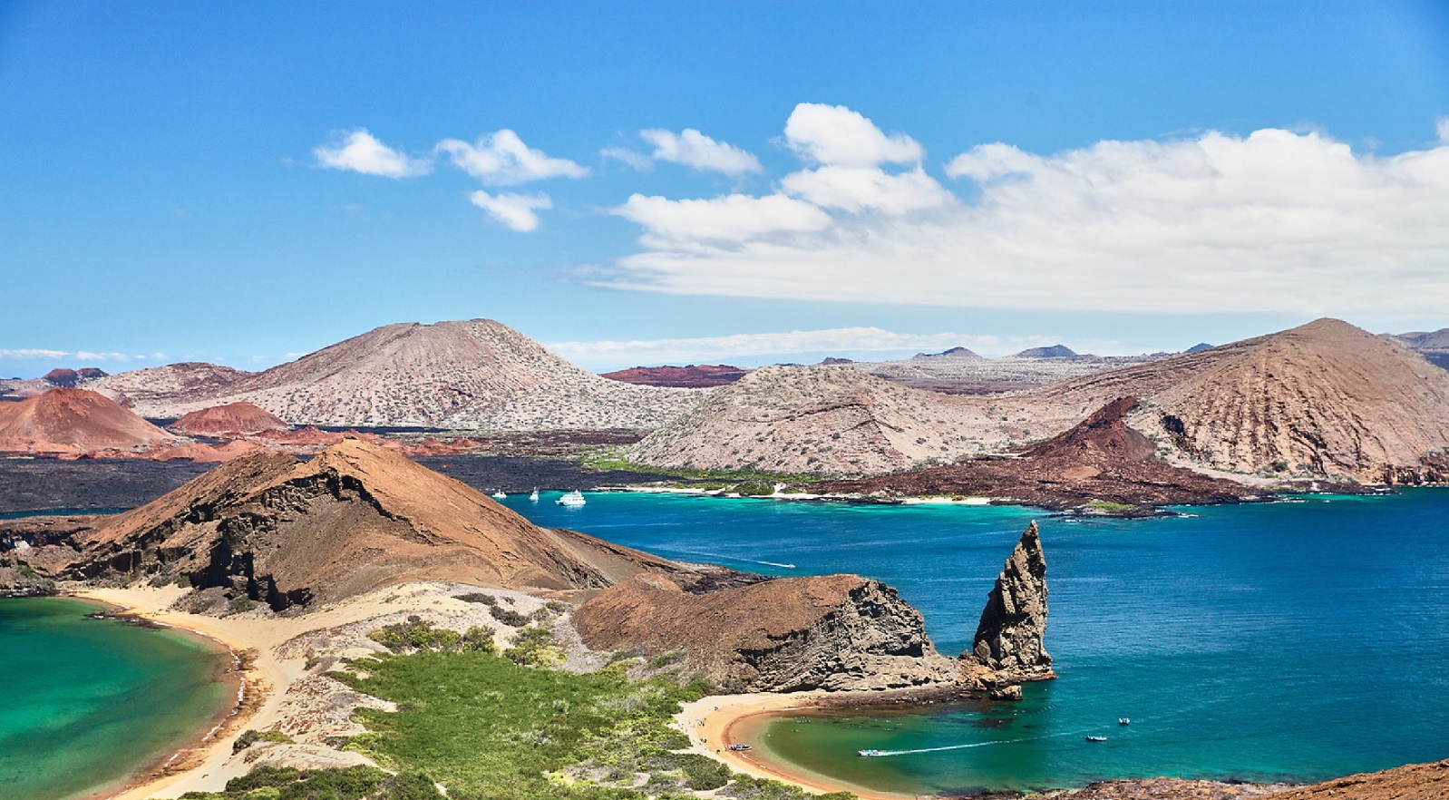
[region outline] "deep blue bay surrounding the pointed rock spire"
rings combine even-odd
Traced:
[[[639,494],[590,494],[569,510],[551,500],[507,504],[539,525],[671,558],[881,578],[952,655],[1037,519],[1059,680],[1027,686],[1023,703],[780,719],[755,742],[858,786],[1303,781],[1449,757],[1449,491],[1151,520]],[[1132,725],[1117,726],[1122,716]],[[862,748],[953,749],[859,758]]]

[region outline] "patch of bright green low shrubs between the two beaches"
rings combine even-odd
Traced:
[[[668,723],[680,703],[711,691],[707,681],[629,680],[633,658],[587,674],[540,667],[562,657],[543,625],[519,630],[501,657],[458,648],[467,633],[416,619],[372,638],[396,652],[356,662],[361,672],[330,674],[397,704],[359,710],[369,732],[346,743],[381,770],[262,767],[225,791],[185,800],[684,800],[711,790],[739,800],[811,797],[687,751],[688,736]]]

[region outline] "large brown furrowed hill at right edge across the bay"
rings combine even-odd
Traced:
[[[1187,461],[1235,472],[1440,478],[1449,372],[1336,319],[1046,387],[1048,403],[1135,394],[1129,419]]]

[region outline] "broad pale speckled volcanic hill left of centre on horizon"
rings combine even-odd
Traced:
[[[245,400],[293,425],[504,430],[658,428],[698,400],[601,378],[487,319],[387,325],[216,391],[122,391],[161,417]]]

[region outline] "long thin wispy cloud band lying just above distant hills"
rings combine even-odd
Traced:
[[[968,333],[897,333],[881,328],[830,328],[735,333],[690,339],[630,339],[600,342],[555,342],[551,351],[582,364],[700,362],[746,357],[785,358],[796,354],[939,352],[965,346],[982,355],[1003,355],[1030,346],[1053,345],[1051,336],[993,336]],[[1113,345],[1111,342],[1093,342]]]

